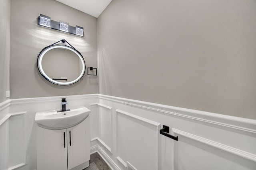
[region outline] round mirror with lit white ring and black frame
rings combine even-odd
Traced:
[[[50,45],[44,48],[38,54],[37,66],[46,80],[58,85],[74,84],[85,72],[83,56],[67,45]]]

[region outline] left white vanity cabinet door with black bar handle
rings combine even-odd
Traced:
[[[67,170],[67,129],[37,132],[37,170]]]

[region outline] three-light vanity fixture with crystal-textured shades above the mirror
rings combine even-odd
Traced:
[[[73,27],[71,25],[68,25],[68,23],[64,22],[64,21],[60,21],[60,22],[54,21],[54,20],[51,20],[50,17],[42,15],[42,14],[40,14],[40,16],[38,16],[38,25],[84,37],[84,28],[83,27],[80,27],[77,25],[76,25],[76,27]]]

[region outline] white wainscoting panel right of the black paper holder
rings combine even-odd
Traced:
[[[256,162],[179,135],[177,170],[255,170]]]

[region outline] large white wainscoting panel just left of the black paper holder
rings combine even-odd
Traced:
[[[158,170],[160,123],[116,109],[117,160],[126,168]]]

